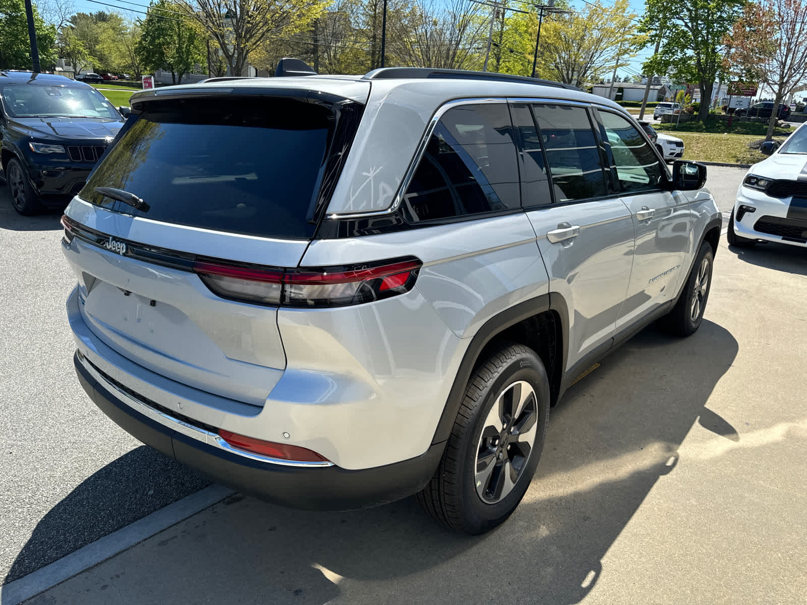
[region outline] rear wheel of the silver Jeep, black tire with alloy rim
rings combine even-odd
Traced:
[[[516,414],[514,400],[522,402]],[[480,534],[503,523],[533,478],[549,410],[541,359],[524,345],[504,344],[471,374],[440,465],[417,494],[420,506],[457,532]]]

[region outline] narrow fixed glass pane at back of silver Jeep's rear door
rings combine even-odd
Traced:
[[[533,112],[525,103],[514,103],[510,106],[510,113],[521,144],[521,205],[529,208],[550,204],[550,180]]]

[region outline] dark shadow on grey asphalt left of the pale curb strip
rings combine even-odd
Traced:
[[[48,511],[3,583],[22,578],[209,484],[155,449],[145,445],[132,449],[86,478]]]

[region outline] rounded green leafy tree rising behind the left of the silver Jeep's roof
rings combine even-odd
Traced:
[[[177,14],[181,10],[182,6],[167,0],[152,2],[140,24],[142,33],[135,51],[146,69],[171,72],[174,84],[181,84],[182,76],[205,60],[206,51],[194,23]]]

